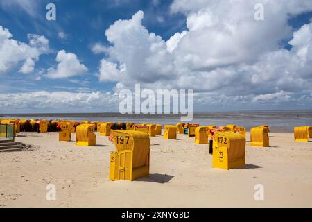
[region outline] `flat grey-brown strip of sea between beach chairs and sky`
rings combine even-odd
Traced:
[[[73,121],[159,123],[162,125],[180,123],[181,114],[120,114],[119,112],[88,113],[28,113],[0,114],[8,119],[67,119]],[[247,130],[254,126],[269,125],[271,132],[293,133],[295,126],[312,126],[312,110],[270,110],[270,111],[208,111],[194,112],[193,121],[202,126],[226,126],[235,124]]]

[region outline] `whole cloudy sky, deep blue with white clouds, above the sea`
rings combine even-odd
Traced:
[[[264,7],[265,20],[257,24],[248,20],[254,15],[251,3],[242,1],[230,6],[226,1],[196,1],[1,1],[0,26],[13,35],[11,40],[29,44],[28,34],[35,34],[49,40],[49,46],[38,58],[31,57],[34,69],[26,73],[20,71],[26,58],[11,62],[5,58],[6,51],[1,52],[0,48],[6,61],[3,64],[8,67],[5,71],[0,69],[0,101],[5,104],[0,112],[73,112],[75,110],[66,105],[68,96],[72,102],[72,98],[77,97],[75,94],[83,93],[88,102],[92,101],[90,95],[96,92],[96,96],[101,97],[99,103],[105,104],[86,108],[87,102],[80,103],[84,99],[72,104],[77,103],[84,112],[112,111],[118,105],[119,88],[131,89],[135,83],[152,89],[194,89],[198,93],[196,110],[280,110],[293,109],[294,105],[295,108],[311,108],[311,1],[283,3],[277,0],[280,6],[276,15],[272,13],[276,6],[268,3]],[[48,3],[56,6],[56,21],[46,20]],[[229,14],[223,15],[224,12]],[[137,19],[132,17],[135,15]],[[233,18],[227,18],[229,15]],[[119,19],[124,22],[114,25]],[[228,26],[229,23],[232,26]],[[125,27],[130,27],[129,31]],[[259,35],[253,35],[248,29],[259,30]],[[111,41],[105,35],[107,30]],[[227,31],[231,30],[227,36]],[[185,35],[181,35],[183,31]],[[297,31],[303,37],[293,40]],[[173,39],[175,34],[178,40]],[[123,36],[119,38],[119,35]],[[310,42],[304,42],[306,36]],[[138,49],[141,46],[134,42],[136,39],[142,42],[142,49]],[[294,43],[289,44],[292,40]],[[173,51],[166,51],[165,56],[162,49],[152,51],[155,43],[168,49],[172,42],[176,45]],[[94,53],[92,47],[96,43],[110,51]],[[131,52],[133,48],[136,49]],[[305,58],[297,56],[300,49],[307,50]],[[80,73],[73,71],[69,77],[49,78],[49,69],[56,73],[60,61],[55,58],[62,50],[66,52],[64,56],[76,55],[75,60],[81,67],[75,70]],[[157,57],[159,54],[163,56]],[[141,65],[141,55],[156,64]],[[138,60],[131,56],[137,56]],[[300,69],[295,62],[299,62]],[[123,66],[127,67],[126,71]],[[277,78],[279,74],[282,76]],[[222,76],[225,80],[220,80]],[[297,85],[292,85],[293,82]],[[47,94],[37,96],[38,92]],[[59,94],[51,95],[53,92]],[[16,103],[8,108],[12,98]],[[49,105],[36,98],[55,103]]]

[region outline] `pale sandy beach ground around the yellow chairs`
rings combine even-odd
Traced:
[[[97,146],[58,142],[58,133],[19,133],[39,148],[0,153],[0,207],[312,207],[312,142],[270,133],[270,148],[246,143],[246,166],[211,168],[207,144],[194,137],[150,138],[150,178],[110,181],[114,144],[96,133]],[[46,185],[56,200],[46,200]],[[264,200],[254,200],[254,185]]]

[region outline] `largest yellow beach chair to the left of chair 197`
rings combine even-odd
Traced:
[[[95,146],[96,135],[94,134],[94,124],[80,124],[76,127],[77,146]]]

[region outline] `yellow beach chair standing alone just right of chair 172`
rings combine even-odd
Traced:
[[[254,127],[250,129],[250,146],[270,146],[267,127]]]

